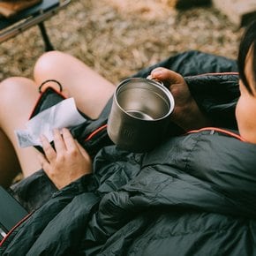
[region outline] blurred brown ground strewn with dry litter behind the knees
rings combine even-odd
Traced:
[[[57,50],[79,57],[113,83],[189,49],[235,58],[242,29],[214,7],[177,11],[171,0],[73,0],[47,20]],[[0,46],[0,80],[32,78],[43,53],[34,26]]]

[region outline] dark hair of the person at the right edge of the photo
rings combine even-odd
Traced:
[[[239,53],[237,58],[237,65],[239,76],[248,92],[252,94],[252,89],[249,86],[248,80],[245,76],[245,62],[246,56],[252,47],[252,75],[254,81],[256,80],[256,20],[245,29],[242,41],[240,42]]]

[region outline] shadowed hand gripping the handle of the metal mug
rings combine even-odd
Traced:
[[[169,87],[169,91],[174,97],[175,108],[170,116],[172,122],[183,128],[184,131],[199,129],[211,124],[210,120],[201,112],[180,74],[159,67],[151,72],[151,78],[162,81],[166,87]]]

